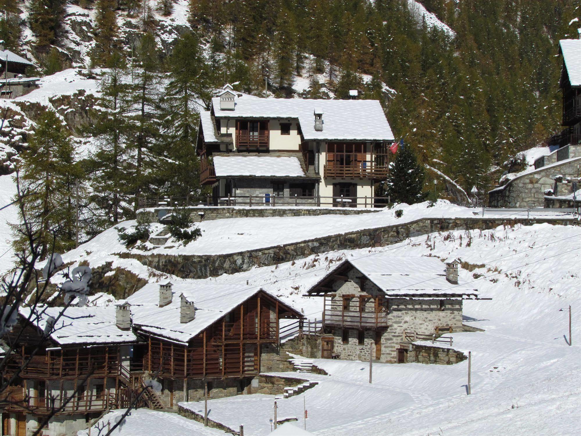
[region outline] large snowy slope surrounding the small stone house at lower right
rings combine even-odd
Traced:
[[[581,328],[573,315],[569,346],[568,313],[560,309],[581,303],[579,227],[535,224],[450,235],[411,238],[367,252],[453,255],[486,265],[460,271],[482,296],[492,298],[464,305],[465,324],[485,331],[453,334],[453,348],[472,352],[472,395],[466,395],[467,361],[450,366],[374,363],[370,385],[365,362],[313,359],[331,376],[295,373],[320,384],[277,399],[279,418],[296,416],[302,427],[304,398],[307,430],[318,435],[576,433],[581,425]],[[293,291],[281,287],[281,292]],[[320,299],[311,299],[321,310]],[[203,403],[181,404],[203,410]],[[209,417],[231,428],[243,424],[253,436],[267,435],[273,405],[272,395],[212,399]]]

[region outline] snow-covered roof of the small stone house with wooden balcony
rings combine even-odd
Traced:
[[[350,263],[387,295],[476,295],[476,289],[467,284],[451,284],[446,280],[444,263],[429,256],[393,256],[380,252],[358,259],[349,259],[333,268]],[[317,287],[315,285],[315,287]]]

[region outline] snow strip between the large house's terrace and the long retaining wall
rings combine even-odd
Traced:
[[[64,262],[75,262],[74,265],[87,260],[92,267],[98,267],[105,262],[112,261],[114,266],[124,267],[140,277],[146,278],[149,270],[145,266],[134,259],[121,259],[119,255],[127,255],[127,253],[131,255],[221,255],[290,244],[350,231],[404,224],[425,217],[474,217],[475,214],[480,213],[480,209],[464,208],[444,200],[437,201],[432,208],[427,206],[427,202],[411,206],[403,204],[397,205],[393,209],[382,209],[379,212],[361,215],[233,218],[203,221],[195,224],[202,230],[202,236],[197,240],[184,245],[170,238],[161,247],[146,242],[127,249],[119,241],[116,228],[112,227],[91,241],[65,253],[63,260]],[[394,215],[398,209],[403,210],[401,218]],[[524,214],[526,216],[526,212]],[[518,215],[514,212],[502,212],[487,213],[486,216],[515,217]],[[134,225],[135,221],[124,221],[116,227]],[[162,224],[152,224],[151,234],[155,235],[163,228]]]

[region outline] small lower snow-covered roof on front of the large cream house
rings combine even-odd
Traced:
[[[214,156],[216,177],[303,177],[297,158],[271,156]]]

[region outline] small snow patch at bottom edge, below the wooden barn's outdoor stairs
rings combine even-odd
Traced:
[[[114,410],[103,416],[91,426],[91,436],[105,436],[107,423],[113,427],[125,410]],[[81,430],[78,436],[88,436],[88,430]],[[167,436],[167,435],[196,435],[196,436],[224,436],[225,433],[216,428],[204,427],[204,424],[184,418],[177,413],[159,412],[157,410],[131,410],[112,435],[120,436]]]

